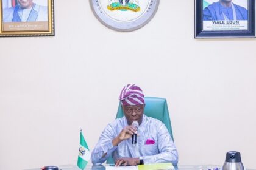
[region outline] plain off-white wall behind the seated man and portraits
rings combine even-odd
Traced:
[[[127,83],[168,100],[181,165],[235,150],[256,169],[255,39],[194,39],[192,0],[129,33],[76,4],[55,1],[55,37],[0,38],[0,169],[76,164],[79,127],[93,149]]]

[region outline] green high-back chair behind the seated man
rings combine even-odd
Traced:
[[[158,98],[158,97],[145,97],[145,109],[144,114],[148,117],[157,118],[158,120],[162,121],[163,124],[167,127],[172,140],[174,140],[172,135],[171,129],[171,121],[169,117],[168,106],[165,98]],[[122,109],[121,103],[118,106],[118,112],[116,114],[116,118],[121,118],[124,116],[124,112]],[[114,160],[112,157],[108,157],[107,159],[108,164],[114,164]]]

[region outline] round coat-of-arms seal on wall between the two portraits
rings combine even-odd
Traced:
[[[154,17],[160,0],[89,0],[93,13],[110,29],[140,29]]]

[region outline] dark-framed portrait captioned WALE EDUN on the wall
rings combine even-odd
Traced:
[[[255,0],[195,0],[195,38],[255,38]]]

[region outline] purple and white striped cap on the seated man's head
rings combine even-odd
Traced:
[[[144,95],[140,87],[135,84],[128,84],[121,91],[119,100],[122,105],[139,105],[145,104]]]

